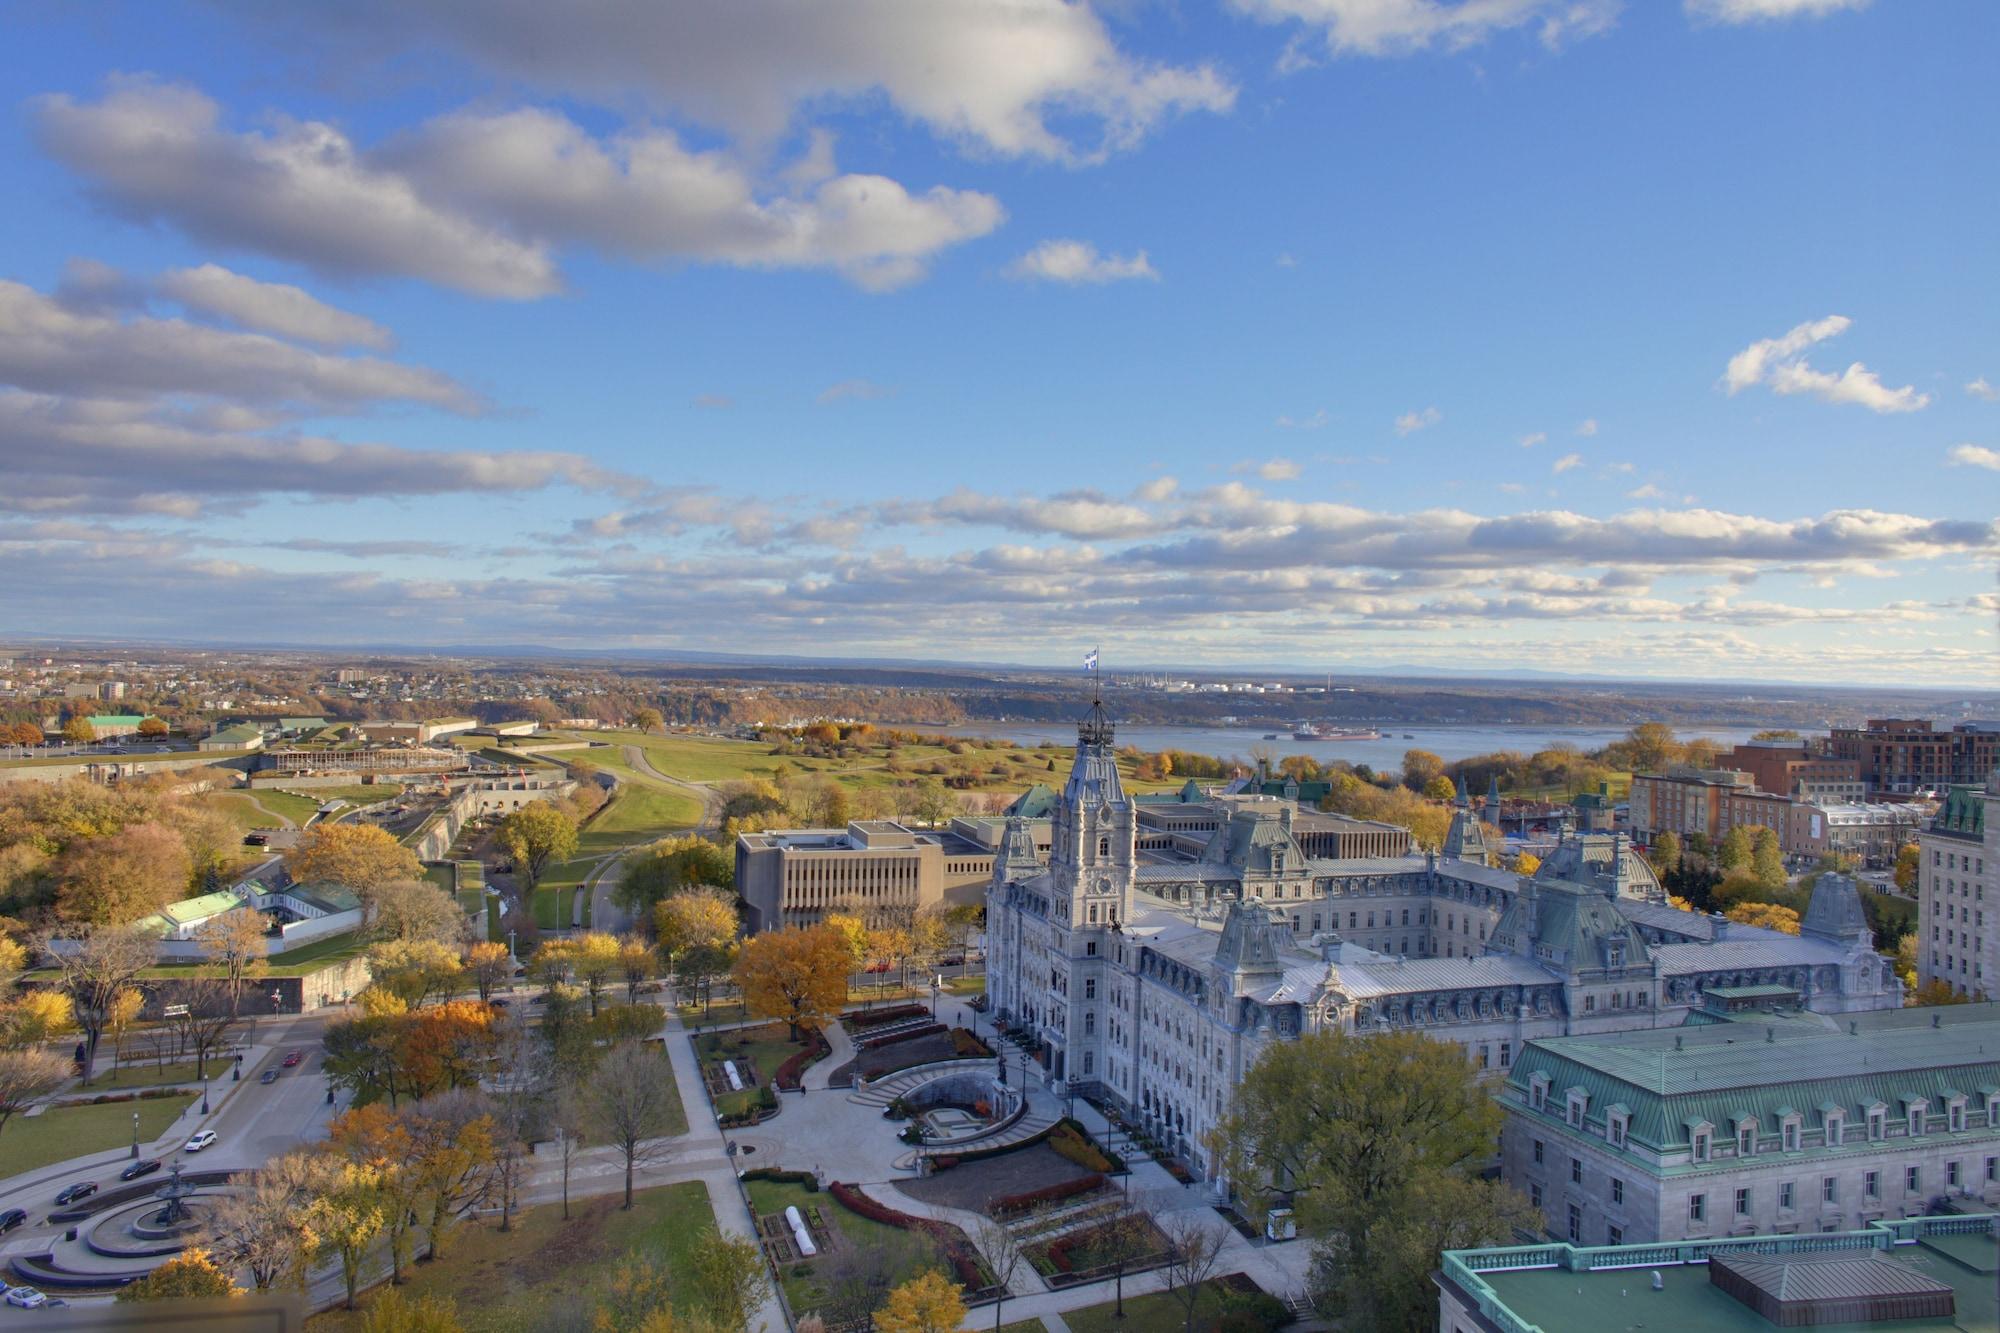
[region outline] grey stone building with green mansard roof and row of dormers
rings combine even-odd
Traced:
[[[2000,1007],[1834,1017],[1772,985],[1706,999],[1704,1023],[1538,1039],[1514,1061],[1502,1175],[1550,1237],[1850,1231],[2000,1201]]]

